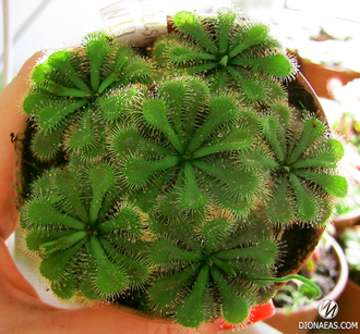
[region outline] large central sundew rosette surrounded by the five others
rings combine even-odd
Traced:
[[[158,203],[168,217],[212,202],[244,215],[257,205],[264,173],[233,163],[259,136],[254,110],[191,76],[137,95],[109,136],[131,198],[144,210]]]

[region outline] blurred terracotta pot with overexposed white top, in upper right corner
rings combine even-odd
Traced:
[[[284,29],[287,21],[280,24],[279,34],[286,38],[288,49],[296,54],[301,73],[316,95],[333,99],[329,82],[339,79],[347,84],[360,77],[359,65],[350,55],[358,46],[357,35],[350,33],[351,28],[339,28],[341,20],[328,20],[320,24],[302,15],[298,18],[291,36]]]

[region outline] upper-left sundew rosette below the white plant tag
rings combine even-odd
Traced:
[[[104,33],[85,36],[77,49],[51,53],[33,72],[23,108],[36,120],[33,150],[39,159],[53,158],[60,146],[86,159],[104,153],[105,123],[116,120],[125,97],[107,108],[108,94],[129,83],[152,83],[151,64],[129,46]]]

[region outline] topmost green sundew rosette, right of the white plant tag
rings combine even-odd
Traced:
[[[156,42],[155,61],[176,72],[203,74],[213,89],[235,86],[251,101],[261,101],[283,96],[278,82],[296,73],[268,27],[232,10],[221,9],[214,17],[179,12],[173,25],[176,33]]]

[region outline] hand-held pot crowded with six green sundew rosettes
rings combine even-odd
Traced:
[[[35,67],[21,225],[61,299],[239,324],[303,280],[344,148],[266,26],[221,9],[171,27],[140,50],[89,34]]]

